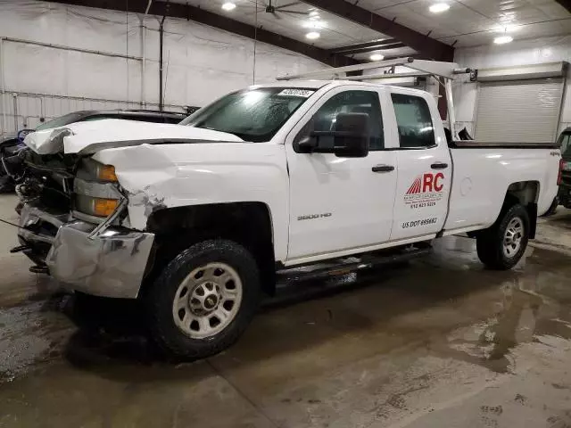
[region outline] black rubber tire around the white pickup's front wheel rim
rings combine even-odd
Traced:
[[[198,339],[175,323],[173,302],[186,276],[209,263],[224,263],[236,271],[242,283],[242,299],[234,319],[222,331]],[[258,309],[260,296],[260,273],[252,254],[238,243],[220,239],[197,243],[170,261],[145,293],[145,308],[151,334],[161,349],[174,357],[194,360],[217,354],[236,342]]]

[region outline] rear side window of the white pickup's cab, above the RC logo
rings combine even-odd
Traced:
[[[434,127],[426,100],[420,96],[391,94],[401,147],[434,146]]]

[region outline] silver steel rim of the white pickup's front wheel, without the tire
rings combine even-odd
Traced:
[[[195,268],[180,283],[172,317],[178,328],[193,339],[214,336],[236,317],[242,292],[235,269],[226,263],[209,263]]]

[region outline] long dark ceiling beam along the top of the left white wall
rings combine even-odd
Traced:
[[[330,53],[327,49],[322,49],[314,45],[308,45],[290,37],[281,36],[277,33],[261,29],[235,21],[226,16],[205,11],[190,4],[169,3],[154,0],[149,7],[148,0],[53,0],[53,3],[73,4],[78,6],[95,7],[119,12],[136,12],[157,16],[167,16],[170,18],[182,18],[188,21],[200,22],[204,25],[223,29],[238,36],[248,37],[262,43],[275,45],[288,51],[301,53],[313,60],[323,62],[332,67],[343,67],[352,65],[358,61],[338,53]]]

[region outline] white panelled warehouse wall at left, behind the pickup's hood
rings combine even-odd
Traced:
[[[159,101],[157,17],[46,2],[0,0],[0,126],[30,128],[81,109],[153,108]],[[32,43],[28,43],[32,42]],[[145,45],[145,49],[143,46]],[[177,19],[165,21],[164,101],[202,106],[320,62]],[[145,56],[145,73],[143,73]],[[13,95],[16,95],[15,97]],[[17,110],[17,125],[14,111]]]

